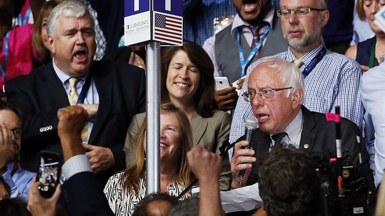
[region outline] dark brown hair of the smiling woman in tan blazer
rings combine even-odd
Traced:
[[[214,66],[210,56],[194,42],[184,40],[182,47],[166,47],[161,50],[160,99],[162,103],[170,102],[169,91],[166,87],[167,72],[173,56],[180,50],[186,52],[200,73],[198,90],[194,95],[196,112],[204,118],[211,117],[212,110],[217,108],[214,99]]]

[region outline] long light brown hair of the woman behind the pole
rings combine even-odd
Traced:
[[[176,181],[180,184],[187,186],[191,182],[190,167],[187,163],[187,152],[193,147],[193,133],[191,132],[190,121],[186,114],[173,104],[167,103],[160,106],[160,114],[164,112],[174,113],[179,122],[180,137],[183,141],[180,142],[180,160],[178,163],[179,173]],[[146,132],[146,121],[143,121],[142,126],[139,128],[135,136],[135,163],[127,168],[120,178],[123,190],[129,193],[139,192],[140,179],[146,179],[145,165],[146,165],[146,153],[144,150],[144,135]]]

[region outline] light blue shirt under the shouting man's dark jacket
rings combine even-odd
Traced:
[[[56,72],[56,75],[58,75],[61,84],[64,87],[65,92],[68,95],[68,92],[70,91],[70,84],[68,82],[68,79],[72,76],[68,75],[67,73],[61,71],[58,66],[55,64],[54,59],[52,59],[52,64],[54,66],[54,70]],[[88,72],[82,76],[77,77],[79,80],[76,84],[76,91],[78,94],[80,94],[83,84],[85,83],[88,76]],[[90,82],[90,88],[87,91],[86,98],[84,99],[84,104],[99,104],[99,94],[97,93],[96,86],[95,86],[95,80],[94,77],[91,77]],[[88,134],[91,134],[92,127],[94,126],[94,122],[88,121]]]

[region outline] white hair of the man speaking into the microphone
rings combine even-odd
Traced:
[[[275,69],[279,74],[279,78],[282,83],[286,85],[286,87],[292,87],[290,91],[302,89],[305,94],[305,80],[302,72],[292,63],[288,62],[284,58],[278,57],[267,57],[257,61],[253,64],[253,68],[250,70],[254,70],[258,65],[264,64],[271,69]],[[286,97],[289,97],[290,91],[288,90]],[[305,96],[301,98],[300,103],[304,104]]]

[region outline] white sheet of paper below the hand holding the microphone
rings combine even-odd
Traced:
[[[226,213],[250,211],[262,207],[258,183],[231,191],[222,191],[220,194],[222,208]]]

